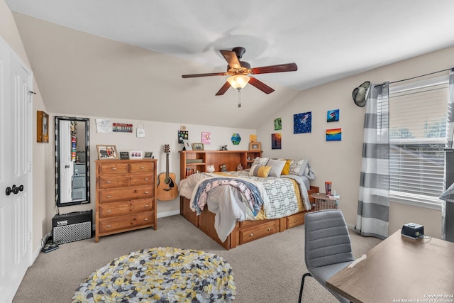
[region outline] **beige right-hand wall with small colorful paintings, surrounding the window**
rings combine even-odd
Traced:
[[[265,121],[258,128],[258,141],[262,141],[264,155],[309,158],[316,173],[316,180],[311,184],[319,186],[321,192],[324,192],[324,182],[333,182],[333,189],[341,194],[340,208],[345,220],[353,227],[358,209],[365,108],[353,103],[351,92],[366,80],[375,83],[394,82],[445,70],[453,64],[454,48],[451,47],[306,89],[289,102],[288,106],[275,113],[274,118],[282,118],[282,131],[274,130],[272,120]],[[441,74],[436,76],[439,75]],[[340,109],[340,120],[327,123],[326,112],[333,109]],[[312,132],[294,134],[293,115],[306,111],[312,112]],[[329,128],[342,128],[342,141],[327,142],[325,133]],[[272,150],[271,134],[278,132],[282,133],[282,150]],[[389,234],[409,222],[423,224],[427,234],[441,237],[441,211],[392,202],[389,208]]]

